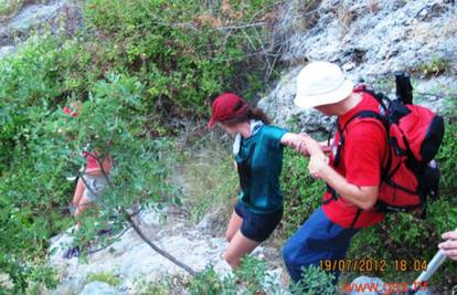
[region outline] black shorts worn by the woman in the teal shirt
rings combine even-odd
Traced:
[[[235,212],[243,219],[241,233],[258,243],[268,239],[283,219],[283,208],[270,213],[258,214],[249,211],[241,201],[236,202]]]

